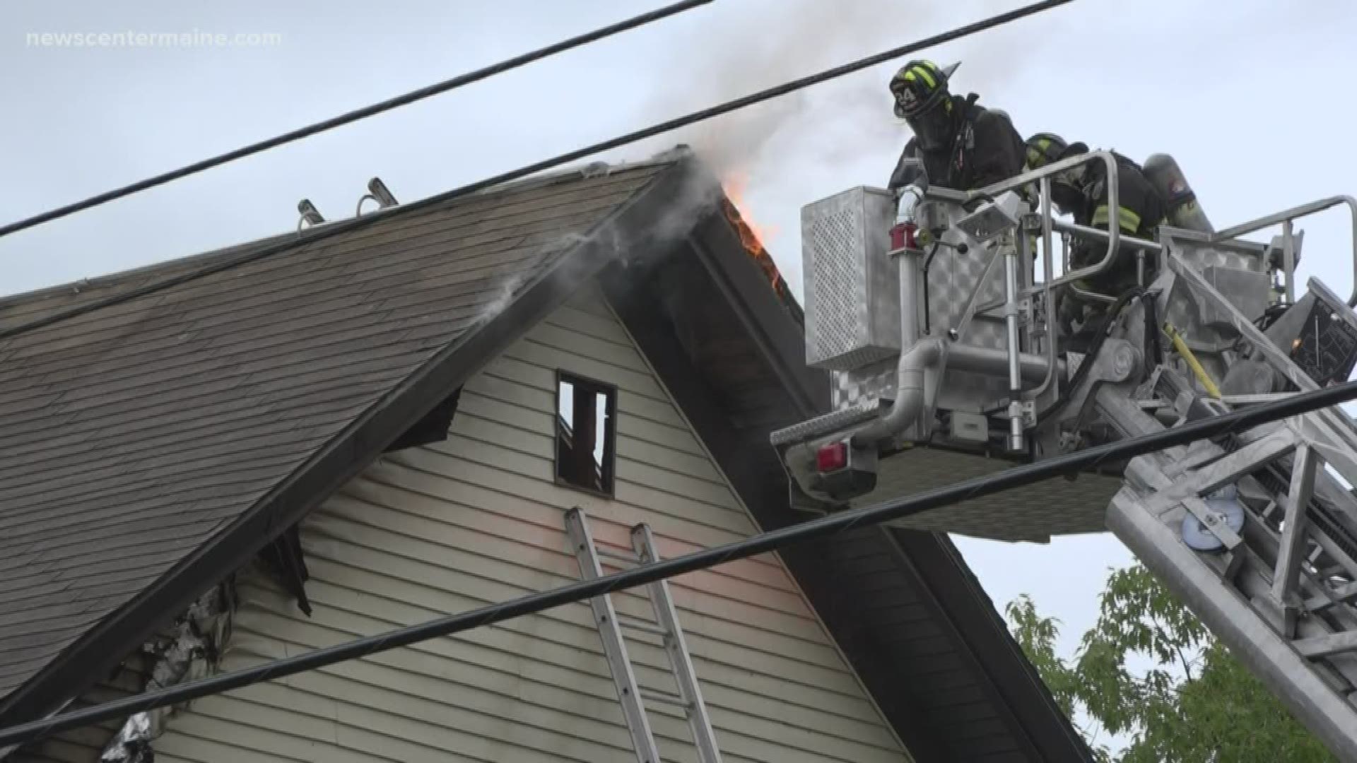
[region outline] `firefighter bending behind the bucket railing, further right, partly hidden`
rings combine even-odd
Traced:
[[[1037,133],[1026,141],[1029,170],[1037,170],[1052,162],[1087,152],[1086,144],[1069,144],[1053,133]],[[1061,215],[1072,216],[1077,225],[1106,229],[1109,220],[1115,219],[1122,235],[1153,239],[1156,228],[1164,223],[1167,205],[1145,179],[1139,164],[1115,152],[1113,156],[1117,160],[1118,209],[1115,215],[1107,205],[1107,167],[1101,160],[1079,164],[1052,176],[1050,201]],[[1106,251],[1105,243],[1076,239],[1069,248],[1069,267],[1096,265],[1106,255]],[[1136,253],[1137,250],[1129,246],[1118,247],[1110,269],[1088,278],[1080,278],[1073,285],[1086,292],[1106,296],[1125,293],[1139,284]],[[1155,257],[1145,253],[1147,285],[1155,280],[1156,265]],[[1061,295],[1060,320],[1067,334],[1073,333],[1073,320],[1080,320],[1079,339],[1087,339],[1087,330],[1098,322],[1105,305],[1106,303],[1102,301],[1084,301],[1072,292]]]

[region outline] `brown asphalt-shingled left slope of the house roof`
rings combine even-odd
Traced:
[[[480,193],[0,339],[0,698],[666,166]],[[0,331],[277,236],[0,300]]]

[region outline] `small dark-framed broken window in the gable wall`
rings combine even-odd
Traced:
[[[612,496],[617,390],[556,375],[556,482]]]

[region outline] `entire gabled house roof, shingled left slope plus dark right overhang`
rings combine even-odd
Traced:
[[[767,436],[826,380],[729,209],[692,215],[719,186],[683,156],[0,300],[0,725],[107,673],[586,278],[760,524],[801,521]],[[944,536],[784,558],[920,760],[1086,759]]]

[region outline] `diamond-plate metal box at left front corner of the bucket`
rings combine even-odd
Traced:
[[[806,364],[851,371],[900,354],[900,274],[886,255],[894,202],[856,187],[801,210]]]

